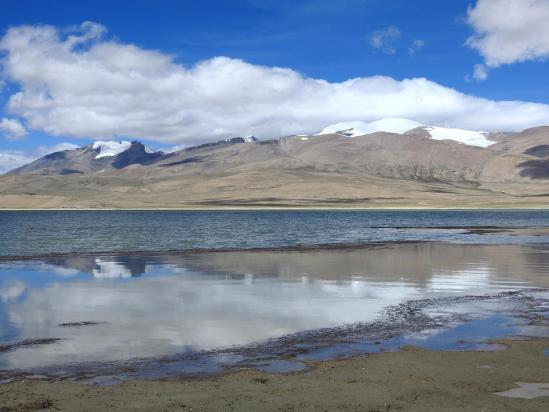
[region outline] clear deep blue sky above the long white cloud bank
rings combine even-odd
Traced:
[[[491,81],[467,82],[481,59],[465,46],[471,0],[201,0],[29,1],[3,7],[0,26],[94,21],[122,42],[173,54],[192,64],[215,56],[283,66],[330,81],[382,74],[397,79],[427,77],[493,99],[549,102],[547,63],[504,67]],[[368,45],[375,30],[401,31],[397,53]],[[410,56],[415,39],[426,45]]]

